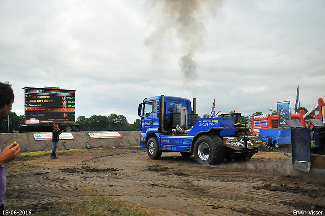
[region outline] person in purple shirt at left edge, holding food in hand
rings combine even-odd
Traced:
[[[0,82],[0,119],[8,118],[15,95],[9,83]],[[5,163],[8,163],[20,155],[20,147],[18,144],[8,145],[0,150],[0,214],[4,210],[4,201],[6,197],[6,174]]]

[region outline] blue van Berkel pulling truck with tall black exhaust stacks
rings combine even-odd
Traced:
[[[250,160],[258,152],[256,137],[236,136],[234,118],[200,118],[195,99],[172,96],[145,98],[138,107],[141,117],[140,146],[151,159],[163,152],[194,154],[200,165],[221,164],[224,159]]]

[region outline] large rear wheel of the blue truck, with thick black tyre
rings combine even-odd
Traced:
[[[199,137],[194,144],[194,156],[203,166],[221,164],[225,157],[222,139],[215,135]]]

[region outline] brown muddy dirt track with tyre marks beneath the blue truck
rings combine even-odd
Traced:
[[[207,167],[177,152],[152,160],[140,147],[57,155],[6,164],[6,210],[44,211],[56,201],[108,195],[159,215],[325,215],[324,172],[294,170],[291,158],[277,152]]]

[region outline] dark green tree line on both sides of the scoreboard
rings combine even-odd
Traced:
[[[139,131],[140,124],[140,119],[130,124],[125,116],[113,113],[109,116],[93,115],[89,118],[79,116],[77,121],[70,125],[80,125],[80,131]],[[25,116],[10,112],[9,124],[8,118],[0,120],[0,133],[18,132],[20,125],[25,125]]]

